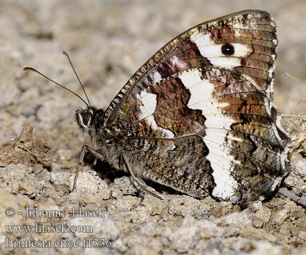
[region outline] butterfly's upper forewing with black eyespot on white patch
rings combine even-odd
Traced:
[[[236,54],[228,45],[231,43],[236,43],[232,44],[236,46]],[[135,72],[106,110],[105,120],[112,122],[127,97],[131,98],[174,73],[194,67],[214,64],[236,67],[260,79],[258,83],[262,89],[270,87],[276,46],[275,23],[264,11],[246,10],[198,24],[163,46]]]

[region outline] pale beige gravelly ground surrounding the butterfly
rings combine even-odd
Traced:
[[[0,253],[306,254],[305,208],[278,194],[242,210],[229,202],[199,200],[150,184],[148,189],[163,197],[159,200],[133,184],[130,176],[103,162],[93,165],[89,155],[77,190],[69,192],[82,145],[91,144],[74,123],[73,113],[83,103],[42,77],[22,71],[24,66],[37,68],[83,96],[61,54],[66,50],[92,105],[106,108],[136,69],[172,37],[202,21],[250,8],[270,12],[278,25],[277,68],[305,81],[302,0],[2,0]],[[285,114],[305,112],[304,101],[296,107],[305,90],[276,71],[275,104]],[[302,122],[294,121],[290,133],[295,140],[302,134],[295,143],[301,149],[292,157],[294,168],[284,185],[306,198],[306,160],[300,156],[306,145],[304,131]],[[54,217],[25,217],[25,208],[34,213],[59,207],[62,211]],[[5,215],[12,212],[7,208],[14,209],[13,217]],[[83,217],[72,217],[79,208]],[[99,215],[89,217],[90,212]],[[37,224],[59,229],[10,233],[5,227]],[[73,231],[75,226],[83,229]],[[30,240],[32,246],[37,241],[47,248],[6,248],[6,238]],[[105,247],[90,248],[89,242]]]

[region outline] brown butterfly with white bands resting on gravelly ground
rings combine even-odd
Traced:
[[[289,172],[290,139],[273,104],[276,46],[275,23],[260,10],[176,36],[106,110],[75,112],[93,143],[80,162],[89,151],[135,180],[241,206],[270,196]]]

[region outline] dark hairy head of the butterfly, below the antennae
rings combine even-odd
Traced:
[[[79,108],[75,111],[75,120],[83,132],[91,134],[93,129],[97,130],[103,125],[104,113],[104,110],[93,106]]]

